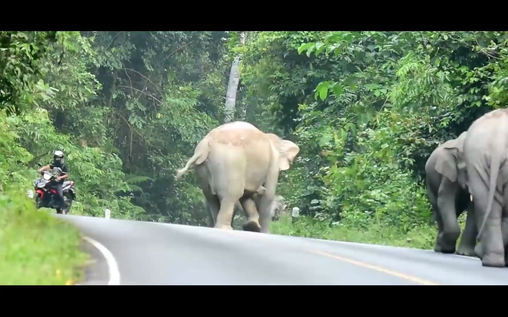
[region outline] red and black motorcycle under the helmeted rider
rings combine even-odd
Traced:
[[[28,197],[35,199],[37,209],[41,207],[54,208],[56,209],[57,214],[69,214],[72,202],[74,199],[76,199],[76,189],[74,187],[74,182],[63,182],[62,192],[65,207],[63,210],[60,210],[58,207],[58,193],[56,192],[56,189],[52,188],[51,186],[53,182],[56,181],[57,175],[61,174],[61,169],[55,166],[52,172],[43,170],[41,174],[42,178],[39,178],[34,182],[34,189],[36,192],[35,197],[33,191],[31,190],[28,191]]]

